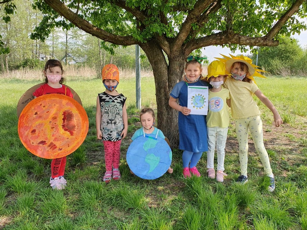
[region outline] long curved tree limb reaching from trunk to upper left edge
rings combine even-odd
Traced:
[[[58,12],[61,16],[72,22],[76,27],[89,33],[101,40],[111,42],[117,45],[135,45],[139,44],[132,36],[119,36],[100,29],[85,19],[80,18],[76,13],[72,12],[63,2],[60,0],[44,0],[52,9]]]

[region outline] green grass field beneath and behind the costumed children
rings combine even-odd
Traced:
[[[249,140],[249,182],[239,176],[234,123],[228,131],[223,183],[206,176],[206,154],[200,178],[183,179],[181,151],[173,149],[173,174],[156,180],[130,175],[125,161],[130,137],[140,127],[135,108],[134,79],[121,79],[118,91],[127,97],[128,136],[122,141],[122,179],[106,185],[103,144],[96,140],[96,96],[104,89],[100,79],[68,78],[89,117],[89,132],[81,147],[68,156],[68,186],[49,186],[50,160],[38,158],[21,144],[16,106],[37,80],[0,79],[0,229],[307,229],[307,79],[257,79],[262,92],[281,114],[284,125],[275,128],[273,116],[261,103],[264,141],[275,174],[276,190],[267,191],[268,178]],[[142,78],[142,105],[156,108],[152,78]],[[258,101],[259,102],[259,101]],[[216,163],[216,160],[215,160]]]

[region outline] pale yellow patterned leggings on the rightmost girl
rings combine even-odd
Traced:
[[[251,132],[256,151],[260,157],[265,173],[273,177],[270,159],[263,144],[262,121],[260,116],[235,119],[235,131],[239,142],[241,175],[247,176],[248,129]]]

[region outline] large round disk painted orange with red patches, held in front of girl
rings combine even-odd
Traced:
[[[73,98],[46,94],[30,101],[18,120],[21,143],[34,155],[55,159],[71,154],[88,132],[84,108]]]

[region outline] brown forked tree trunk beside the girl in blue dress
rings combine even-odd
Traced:
[[[169,65],[161,48],[153,41],[140,44],[153,68],[157,100],[157,128],[169,139],[171,148],[178,148],[178,111],[169,106],[169,94],[184,71],[183,51],[172,53]]]

